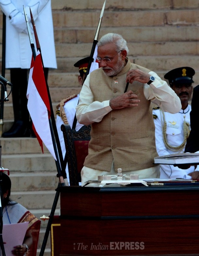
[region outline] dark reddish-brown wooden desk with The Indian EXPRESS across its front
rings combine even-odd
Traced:
[[[197,184],[60,187],[54,246],[60,255],[199,255]]]

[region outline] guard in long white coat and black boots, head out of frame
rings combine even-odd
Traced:
[[[0,0],[0,7],[6,15],[6,69],[10,69],[14,124],[2,137],[29,137],[29,112],[27,109],[27,77],[30,69],[32,50],[28,36],[23,6],[26,10],[32,37],[35,36],[30,18],[33,14],[38,40],[44,63],[44,75],[48,69],[56,69],[53,17],[51,0]],[[36,48],[37,49],[37,48]]]

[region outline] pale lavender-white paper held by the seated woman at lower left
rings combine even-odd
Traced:
[[[29,222],[3,224],[2,237],[6,256],[13,256],[12,250],[16,245],[22,245]]]

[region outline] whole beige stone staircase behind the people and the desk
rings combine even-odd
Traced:
[[[48,85],[55,113],[60,100],[80,91],[73,64],[90,55],[104,0],[52,0],[58,69],[50,70]],[[195,69],[199,81],[199,6],[197,0],[106,0],[99,38],[116,32],[127,40],[131,62],[152,69],[161,78],[170,69]],[[2,24],[2,17],[0,17]],[[0,31],[0,42],[2,33]],[[1,55],[1,54],[0,54]],[[5,77],[9,80],[9,70]],[[9,93],[9,88],[8,88]],[[12,98],[4,104],[3,131],[13,122]],[[38,218],[50,214],[58,185],[55,161],[36,138],[0,138],[1,166],[10,170],[13,200]],[[55,214],[59,213],[58,202]],[[38,254],[47,221],[42,221]],[[50,236],[45,250],[50,255]]]

